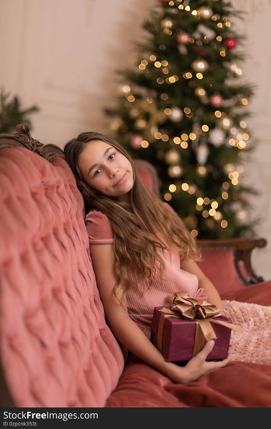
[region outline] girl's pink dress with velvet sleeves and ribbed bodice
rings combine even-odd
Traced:
[[[164,204],[172,210],[167,203]],[[112,244],[114,242],[113,231],[106,215],[93,210],[88,213],[85,222],[90,245]],[[187,292],[189,296],[198,299],[200,303],[207,299],[204,290],[199,289],[197,276],[180,268],[179,251],[173,250],[171,258],[168,251],[163,254],[161,249],[158,249],[158,252],[165,263],[163,277],[160,278],[158,275],[152,277],[151,290],[147,291],[145,287],[145,291],[142,293],[143,284],[139,282],[138,290],[132,286],[126,294],[129,317],[134,320],[148,338],[153,309],[154,307],[169,305],[167,295],[175,292]]]

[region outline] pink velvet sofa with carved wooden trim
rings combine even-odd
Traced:
[[[42,147],[27,126],[1,135],[0,148],[2,406],[270,406],[270,366],[231,362],[197,382],[174,384],[136,356],[125,362],[104,318],[83,198],[61,151]],[[155,189],[148,168],[138,163]],[[220,266],[211,280],[222,298],[271,305],[271,282],[253,284],[254,273],[243,264],[237,275],[233,263],[240,243],[245,253],[265,240],[240,239],[239,250],[237,242],[199,242],[201,268]]]

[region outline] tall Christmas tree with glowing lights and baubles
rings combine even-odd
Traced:
[[[240,13],[222,0],[160,0],[150,17],[134,65],[118,72],[112,137],[155,166],[161,197],[194,237],[253,235],[247,196],[257,192],[241,183],[253,87],[238,82],[243,37],[231,21]]]

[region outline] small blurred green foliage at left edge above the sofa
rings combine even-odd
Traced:
[[[11,134],[15,131],[16,125],[28,124],[31,129],[30,113],[38,112],[37,106],[21,110],[21,103],[18,97],[9,99],[10,94],[5,93],[1,88],[0,92],[0,133]]]

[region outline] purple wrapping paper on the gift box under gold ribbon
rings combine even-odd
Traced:
[[[161,311],[159,310],[162,308],[164,307],[155,307],[152,317],[150,339],[155,347],[157,347],[158,323],[161,317]],[[165,308],[170,309],[170,307]],[[232,320],[225,316],[215,317],[215,319],[232,323]],[[211,326],[217,338],[214,338],[214,347],[208,354],[207,360],[226,359],[232,330],[226,328],[226,326],[220,326],[215,323],[211,323]],[[196,322],[194,322],[194,320],[167,317],[164,322],[162,334],[162,354],[164,358],[168,362],[188,361],[192,359],[195,334]],[[206,340],[204,344],[206,344]]]

